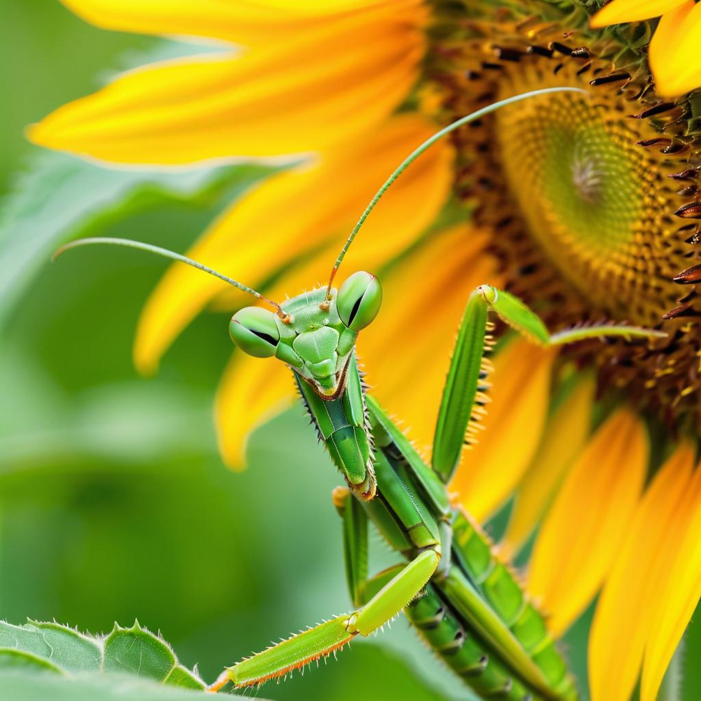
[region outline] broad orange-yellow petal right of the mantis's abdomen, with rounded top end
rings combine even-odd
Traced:
[[[616,557],[643,486],[648,439],[639,418],[618,409],[569,472],[533,548],[529,590],[559,635],[596,594]]]

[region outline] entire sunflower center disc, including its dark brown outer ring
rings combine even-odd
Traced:
[[[454,134],[456,191],[491,231],[508,289],[553,330],[604,318],[663,327],[667,339],[578,344],[562,357],[596,367],[604,395],[622,390],[692,426],[701,297],[673,278],[701,257],[701,139],[690,104],[655,96],[645,27],[591,32],[581,6],[537,0],[441,8],[426,109],[443,123],[529,90],[585,90],[512,104]]]

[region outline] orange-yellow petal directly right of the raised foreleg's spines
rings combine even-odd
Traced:
[[[505,501],[533,459],[547,417],[555,355],[519,338],[494,359],[485,430],[451,483],[477,521]]]

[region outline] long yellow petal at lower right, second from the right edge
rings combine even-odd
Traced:
[[[675,551],[669,528],[686,496],[694,449],[682,444],[642,498],[597,602],[589,637],[592,701],[628,701],[635,688],[652,627],[655,592],[669,574]],[[625,654],[621,651],[625,650]]]

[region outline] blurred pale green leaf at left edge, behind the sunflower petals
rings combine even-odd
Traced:
[[[0,325],[65,240],[164,202],[211,206],[222,198],[233,200],[271,172],[273,168],[253,163],[125,170],[66,154],[39,154],[2,207]]]

